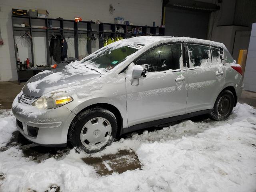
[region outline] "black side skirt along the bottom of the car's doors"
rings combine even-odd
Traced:
[[[191,117],[198,116],[198,115],[209,114],[210,112],[212,112],[212,109],[206,109],[206,110],[196,111],[196,112],[192,112],[192,113],[187,113],[184,115],[178,115],[178,116],[173,116],[173,117],[168,117],[168,118],[164,118],[164,119],[159,119],[159,120],[136,124],[136,125],[133,125],[133,126],[130,126],[127,128],[122,128],[122,130],[120,131],[120,135],[128,133],[128,132],[133,132],[136,130],[152,127],[152,126],[157,126],[157,125],[166,124],[166,123],[173,122],[173,121],[191,118]]]

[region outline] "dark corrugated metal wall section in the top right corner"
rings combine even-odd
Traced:
[[[256,22],[256,0],[236,0],[234,25],[252,26]]]

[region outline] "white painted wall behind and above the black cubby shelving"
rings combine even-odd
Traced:
[[[0,0],[0,27],[4,40],[4,45],[0,46],[0,81],[18,79],[12,35],[12,8],[46,9],[50,12],[50,18],[74,19],[80,16],[83,20],[112,23],[115,17],[124,17],[125,20],[136,25],[152,26],[153,22],[156,22],[156,26],[161,24],[162,0],[112,0],[115,9],[113,15],[109,13],[109,4],[110,0]],[[39,35],[34,41],[38,42],[39,39],[44,37]],[[69,43],[72,44],[72,40]],[[38,44],[34,46],[43,52],[41,56],[35,53],[34,59],[43,64],[44,48]],[[21,52],[28,52],[28,49],[20,47],[19,51],[22,56]],[[71,48],[68,51],[68,54],[72,54]]]

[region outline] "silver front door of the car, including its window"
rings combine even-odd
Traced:
[[[134,61],[147,73],[138,85],[126,78],[129,126],[185,114],[188,77],[184,63],[181,43],[158,46]]]

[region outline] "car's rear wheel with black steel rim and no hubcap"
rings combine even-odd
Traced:
[[[222,91],[214,104],[212,112],[209,114],[212,120],[226,120],[234,108],[234,95],[230,90]]]

